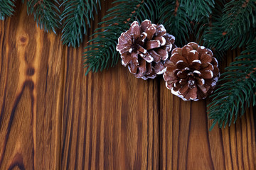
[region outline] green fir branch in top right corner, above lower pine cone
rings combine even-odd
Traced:
[[[228,50],[250,44],[256,36],[256,6],[254,1],[230,1],[224,14],[203,36],[206,46]]]

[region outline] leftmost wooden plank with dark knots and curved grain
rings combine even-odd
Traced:
[[[58,169],[63,45],[16,6],[0,21],[0,169]]]

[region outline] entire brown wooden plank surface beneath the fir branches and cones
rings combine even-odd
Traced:
[[[60,31],[15,9],[0,21],[0,169],[256,169],[255,108],[209,132],[209,101],[182,101],[161,77],[136,79],[121,64],[85,77],[88,36],[63,46]]]

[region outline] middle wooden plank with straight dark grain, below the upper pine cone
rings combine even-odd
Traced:
[[[102,1],[90,33],[110,5]],[[121,64],[85,77],[82,47],[65,58],[60,169],[159,169],[157,81]]]

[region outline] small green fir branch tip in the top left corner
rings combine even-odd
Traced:
[[[14,13],[14,0],[0,0],[0,20]]]

